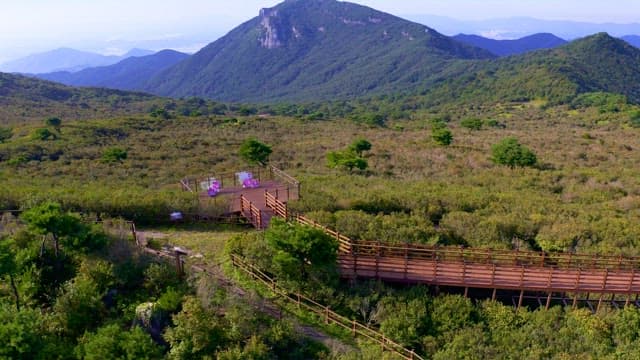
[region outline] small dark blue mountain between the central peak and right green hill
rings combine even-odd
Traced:
[[[524,54],[534,50],[551,49],[562,46],[567,41],[548,33],[534,34],[517,40],[494,40],[478,35],[459,34],[454,39],[476,46],[498,56]]]

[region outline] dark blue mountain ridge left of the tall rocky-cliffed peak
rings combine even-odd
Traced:
[[[131,57],[103,67],[78,72],[55,72],[36,75],[38,78],[72,86],[99,86],[111,89],[140,89],[144,83],[160,71],[188,58],[189,55],[173,50],[163,50],[153,55]]]

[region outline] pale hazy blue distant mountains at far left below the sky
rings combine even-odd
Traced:
[[[0,65],[0,71],[23,74],[40,74],[55,71],[75,72],[90,67],[112,65],[130,57],[146,56],[153,53],[150,50],[132,49],[122,56],[105,56],[61,48],[4,63]]]

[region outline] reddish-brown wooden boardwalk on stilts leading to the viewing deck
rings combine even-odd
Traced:
[[[626,296],[627,304],[640,294],[640,258],[354,241],[289,212],[287,203],[300,196],[300,183],[293,177],[273,167],[261,175],[259,188],[223,188],[221,194],[232,196],[232,211],[258,229],[266,228],[273,216],[321,229],[338,241],[338,265],[346,279],[461,287],[465,293],[469,288],[493,289],[494,298],[498,289],[515,290],[518,306],[525,292],[548,294],[547,307],[554,293],[572,294],[574,306],[580,294],[598,294],[599,305],[606,294],[612,299]]]

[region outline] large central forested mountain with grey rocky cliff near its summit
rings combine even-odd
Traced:
[[[489,52],[426,26],[335,0],[263,9],[144,88],[224,101],[289,101],[410,91]],[[460,64],[463,63],[463,64]]]

